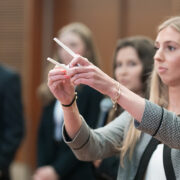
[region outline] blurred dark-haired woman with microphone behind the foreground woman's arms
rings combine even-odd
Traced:
[[[131,91],[148,98],[148,77],[153,67],[155,50],[153,41],[145,36],[134,36],[120,39],[117,42],[114,58],[114,78]],[[114,120],[123,109],[118,105],[115,110],[111,99],[104,98],[100,103],[98,127]],[[133,146],[132,140],[128,139]],[[123,146],[126,149],[126,146]],[[94,162],[98,180],[117,178],[119,156],[97,160]]]

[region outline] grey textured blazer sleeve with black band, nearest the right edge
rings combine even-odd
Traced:
[[[180,149],[180,117],[146,100],[141,123],[135,127],[171,148]]]

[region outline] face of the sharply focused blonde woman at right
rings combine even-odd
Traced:
[[[180,85],[180,33],[172,27],[161,30],[156,38],[155,69],[168,86]]]

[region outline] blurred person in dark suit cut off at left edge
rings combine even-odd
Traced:
[[[0,64],[0,180],[9,180],[9,166],[24,135],[19,75]]]

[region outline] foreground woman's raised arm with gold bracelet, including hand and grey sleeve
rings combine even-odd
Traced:
[[[77,66],[78,64],[78,66]],[[69,75],[73,84],[86,84],[99,92],[117,98],[117,103],[128,111],[136,120],[136,127],[172,148],[180,148],[180,117],[151,103],[121,84],[82,57],[74,58],[70,64]],[[120,93],[118,95],[120,87]],[[166,132],[166,133],[165,133]]]

